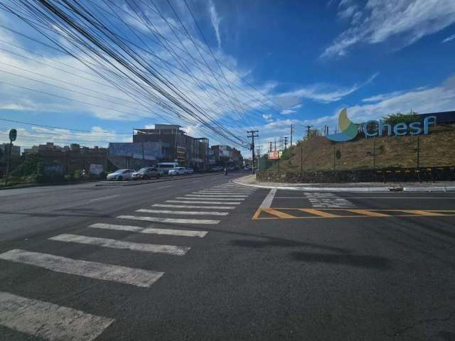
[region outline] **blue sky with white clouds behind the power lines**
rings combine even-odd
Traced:
[[[246,130],[259,130],[264,148],[274,136],[289,136],[291,124],[296,138],[304,134],[306,124],[319,128],[327,124],[333,131],[343,107],[353,121],[410,109],[421,113],[455,109],[453,0],[188,1],[210,49],[223,65],[220,70],[227,80],[221,82],[203,70],[204,60],[214,70],[218,67],[208,49],[196,50],[188,36],[170,29],[184,27],[199,46],[205,46],[184,2],[170,3],[181,23],[167,1],[154,2],[163,17],[146,7],[144,13],[163,38],[176,45],[179,38],[183,41],[186,51],[176,50],[181,63],[196,79],[205,77],[211,82],[213,92],[202,83],[182,80],[177,69],[175,75],[168,74],[169,79],[233,134],[245,139]],[[90,7],[88,1],[82,4]],[[107,11],[102,1],[98,4],[99,13]],[[134,18],[124,1],[114,4],[117,14],[141,37],[153,38],[153,32]],[[4,9],[0,23],[46,41]],[[114,27],[140,45],[127,26],[118,23]],[[58,33],[55,37],[65,41]],[[150,46],[161,58],[177,64],[162,46]],[[199,67],[189,63],[192,58]],[[149,58],[149,62],[167,72],[160,60]],[[0,27],[0,118],[90,131],[0,121],[0,142],[6,142],[6,131],[14,126],[19,129],[21,146],[44,141],[106,146],[107,141],[130,141],[131,135],[119,133],[129,133],[134,127],[170,121],[193,136],[208,136],[211,144],[225,143],[200,124],[188,123],[160,107],[141,107],[87,72],[74,58]]]

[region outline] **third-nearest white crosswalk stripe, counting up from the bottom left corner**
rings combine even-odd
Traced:
[[[58,242],[67,243],[96,245],[97,247],[110,247],[112,249],[127,249],[132,251],[151,252],[154,254],[172,254],[173,256],[183,256],[188,251],[190,251],[190,247],[124,242],[122,240],[117,239],[87,237],[80,236],[77,234],[60,234],[58,236],[49,238],[49,240],[56,240]]]

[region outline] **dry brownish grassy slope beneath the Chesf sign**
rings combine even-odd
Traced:
[[[437,126],[427,136],[421,135],[419,166],[455,166],[455,129]],[[417,167],[417,136],[375,138],[375,168]],[[301,141],[284,153],[272,168],[280,173],[300,173],[301,148],[305,171],[333,170],[334,153],[341,151],[339,169],[373,168],[373,139],[358,136],[353,141],[334,143],[323,136]],[[336,161],[338,169],[338,161]]]

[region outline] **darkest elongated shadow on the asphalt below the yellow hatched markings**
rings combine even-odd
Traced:
[[[391,261],[387,258],[359,254],[291,252],[291,258],[296,261],[306,261],[309,263],[331,263],[378,270],[387,270],[391,267]]]

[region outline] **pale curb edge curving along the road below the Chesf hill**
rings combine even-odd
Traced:
[[[455,186],[439,187],[302,187],[302,186],[272,186],[272,185],[255,185],[252,183],[242,183],[231,180],[237,185],[244,185],[256,188],[275,188],[277,190],[300,190],[307,192],[455,192]]]

